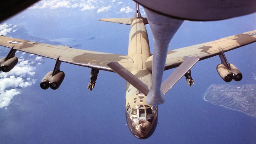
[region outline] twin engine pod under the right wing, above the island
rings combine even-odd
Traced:
[[[230,63],[229,66],[230,69],[224,64],[219,64],[217,66],[217,72],[219,73],[220,77],[225,82],[231,82],[232,79],[235,81],[241,81],[243,78],[242,73],[233,64]]]

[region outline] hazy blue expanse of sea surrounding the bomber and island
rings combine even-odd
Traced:
[[[8,28],[22,25],[32,36],[64,45],[81,45],[75,48],[127,54],[130,26],[98,20],[133,17],[133,1],[50,3],[41,1],[3,23],[12,25]],[[140,10],[143,15],[143,8]],[[221,21],[185,21],[169,49],[254,30],[255,21],[255,13]],[[152,51],[149,26],[147,30]],[[90,37],[95,38],[88,40]],[[42,90],[39,82],[52,71],[55,61],[46,59],[45,63],[34,66],[29,61],[27,67],[31,66],[30,72],[35,74],[25,72],[25,77],[30,77],[27,82],[31,85],[24,87],[9,106],[0,108],[0,139],[4,143],[253,143],[255,117],[212,105],[203,96],[212,84],[255,84],[255,46],[250,44],[226,53],[228,62],[243,73],[240,82],[225,83],[220,78],[216,71],[220,64],[218,56],[199,61],[191,69],[195,85],[190,88],[182,78],[168,92],[165,103],[159,106],[156,131],[147,140],[136,139],[125,125],[125,81],[120,76],[100,71],[90,92],[86,88],[90,69],[62,63],[60,69],[65,72],[65,79],[60,88]],[[165,71],[164,78],[171,72]]]

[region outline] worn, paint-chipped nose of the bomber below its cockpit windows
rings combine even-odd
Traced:
[[[134,135],[138,139],[147,139],[149,138],[153,132],[152,130],[152,123],[148,120],[137,120],[132,123],[132,127],[135,131]],[[154,131],[154,130],[153,130]]]

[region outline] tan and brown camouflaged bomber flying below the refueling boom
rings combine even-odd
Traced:
[[[155,69],[155,71],[177,68],[162,84],[157,84],[152,82],[152,79],[157,79],[152,75],[152,71],[154,72],[154,64],[157,68],[157,63],[154,61],[161,58],[159,55],[150,53],[145,27],[149,18],[141,16],[138,4],[136,4],[136,12],[133,18],[100,20],[131,25],[128,55],[93,52],[68,46],[42,44],[0,36],[0,45],[11,48],[8,55],[0,60],[1,70],[9,72],[18,62],[15,52],[22,51],[56,60],[53,71],[47,73],[40,83],[42,89],[51,87],[55,90],[60,87],[65,77],[64,72],[60,70],[61,62],[92,68],[91,81],[88,84],[90,90],[95,86],[99,70],[116,72],[127,81],[125,93],[126,120],[129,130],[138,139],[147,139],[153,134],[157,125],[158,105],[164,102],[163,95],[182,76],[186,77],[190,86],[194,84],[190,68],[197,61],[219,55],[221,64],[217,66],[217,72],[220,77],[225,82],[230,82],[232,79],[240,81],[242,73],[234,65],[228,63],[224,52],[256,42],[256,30],[253,30],[203,44],[166,51],[164,69]],[[179,26],[181,23],[175,22],[175,20],[173,22],[174,25],[178,24]],[[153,53],[155,51],[153,49]],[[162,79],[158,79],[158,81],[161,82]],[[158,92],[160,92],[160,95],[157,95]],[[149,97],[149,94],[151,94],[151,97]]]

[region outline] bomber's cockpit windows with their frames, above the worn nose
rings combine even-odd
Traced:
[[[153,110],[148,105],[141,104],[131,108],[129,103],[126,106],[126,111],[132,119],[149,119],[153,117],[156,112],[156,110]]]

